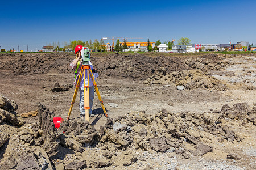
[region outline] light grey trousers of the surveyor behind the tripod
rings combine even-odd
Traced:
[[[80,112],[81,112],[80,114],[85,114],[85,109],[84,109],[84,90],[81,90],[79,88],[79,92],[80,92],[79,109],[80,109]],[[93,99],[94,99],[94,86],[89,87],[89,103],[90,103],[89,114],[92,114]]]

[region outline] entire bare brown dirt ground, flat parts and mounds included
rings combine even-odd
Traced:
[[[67,121],[73,58],[0,54],[0,169],[255,168],[255,54],[93,53],[89,122],[79,95]]]

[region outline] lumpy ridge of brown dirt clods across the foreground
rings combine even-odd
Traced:
[[[74,120],[62,122],[56,129],[54,116],[38,104],[38,122],[20,128],[0,124],[0,148],[6,153],[0,168],[121,168],[142,159],[135,154],[139,150],[175,152],[189,159],[212,152],[212,142],[241,142],[230,125],[234,121],[255,125],[256,108],[237,103],[203,114],[175,114],[166,109],[152,115],[130,112],[114,120],[108,118],[100,130],[89,122]]]

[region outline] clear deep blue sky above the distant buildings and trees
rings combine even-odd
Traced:
[[[0,46],[40,50],[49,43],[143,37],[161,42],[256,44],[256,1],[3,1]],[[111,42],[111,41],[106,41]],[[175,41],[176,43],[177,41]]]

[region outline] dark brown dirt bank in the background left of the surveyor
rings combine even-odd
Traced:
[[[71,73],[70,53],[7,53],[1,54],[0,70],[8,70],[7,74],[43,74],[49,71]]]

